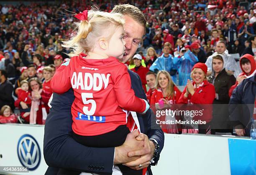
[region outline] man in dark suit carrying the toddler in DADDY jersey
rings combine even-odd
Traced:
[[[125,18],[125,54],[120,60],[125,63],[133,56],[141,42],[146,20],[143,13],[133,5],[116,5],[112,12],[121,13]],[[146,99],[138,74],[129,71],[129,75],[136,96]],[[152,158],[154,159],[151,165],[156,165],[159,159],[158,153],[164,147],[164,133],[159,125],[156,125],[151,110],[144,115],[137,114],[140,134],[137,130],[131,132],[119,147],[94,148],[80,145],[71,137],[73,101],[72,89],[53,96],[44,133],[44,158],[49,165],[46,175],[69,174],[68,169],[112,174],[115,164],[124,164],[134,170],[148,167],[147,175],[152,174],[149,164]]]

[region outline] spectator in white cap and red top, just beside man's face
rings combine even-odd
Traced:
[[[147,89],[146,89],[146,74],[148,73],[148,68],[147,67],[143,67],[141,65],[141,61],[142,61],[142,57],[140,54],[136,54],[133,56],[133,63],[135,64],[135,68],[131,68],[131,71],[135,72],[136,74],[138,74],[141,78],[141,82],[142,82],[142,87],[145,91],[145,93],[147,93]]]

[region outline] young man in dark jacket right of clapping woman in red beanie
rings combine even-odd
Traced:
[[[215,132],[233,132],[228,124],[228,110],[225,105],[228,104],[229,96],[228,91],[236,82],[236,78],[233,75],[228,75],[225,70],[225,62],[221,54],[217,54],[212,57],[212,74],[209,78],[209,82],[215,87],[215,99],[213,101],[213,113],[212,113],[212,134]]]

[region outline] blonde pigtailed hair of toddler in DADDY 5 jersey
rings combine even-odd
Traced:
[[[82,52],[92,51],[99,37],[105,36],[108,40],[118,27],[123,27],[125,20],[120,13],[107,13],[88,10],[88,20],[75,23],[77,34],[69,41],[64,41],[61,46],[72,48],[69,56],[77,56]]]

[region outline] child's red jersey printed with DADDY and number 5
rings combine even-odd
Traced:
[[[95,136],[126,124],[127,112],[144,112],[146,103],[135,96],[127,67],[115,57],[85,59],[81,53],[60,66],[51,79],[51,89],[64,93],[74,89],[71,107],[76,134]]]

